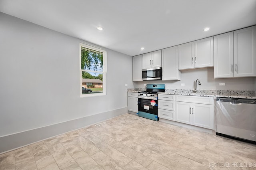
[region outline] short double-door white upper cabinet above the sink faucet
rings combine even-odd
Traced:
[[[178,68],[193,69],[214,65],[213,37],[178,45]]]

